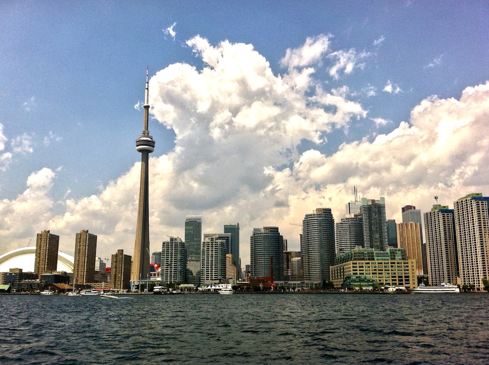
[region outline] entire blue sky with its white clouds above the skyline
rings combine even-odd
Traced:
[[[316,207],[488,194],[486,1],[0,4],[0,253],[50,229],[133,251],[145,68],[151,249]],[[32,243],[32,242],[31,242]]]

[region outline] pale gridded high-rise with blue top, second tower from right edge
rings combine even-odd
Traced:
[[[431,285],[457,283],[457,251],[453,209],[439,204],[424,213],[424,232]]]

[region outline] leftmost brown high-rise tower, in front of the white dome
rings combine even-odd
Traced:
[[[39,279],[44,272],[57,270],[59,243],[60,236],[53,235],[49,231],[37,234],[34,272]]]

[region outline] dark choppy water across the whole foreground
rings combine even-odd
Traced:
[[[489,295],[0,296],[0,364],[489,364]]]

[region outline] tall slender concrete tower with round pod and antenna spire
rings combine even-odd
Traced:
[[[134,241],[133,270],[131,281],[150,276],[150,219],[149,219],[149,154],[155,150],[155,141],[148,130],[149,82],[146,67],[146,91],[144,94],[143,132],[136,139],[136,151],[141,152],[141,181],[137,207],[136,239]]]

